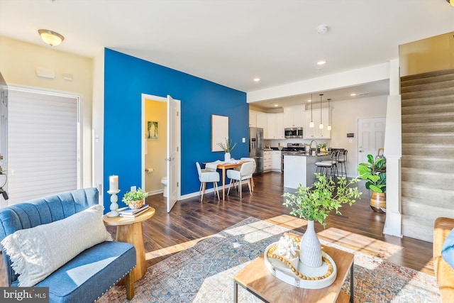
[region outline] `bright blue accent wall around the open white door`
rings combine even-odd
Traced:
[[[182,195],[199,192],[196,161],[223,160],[223,152],[211,152],[211,114],[229,117],[229,136],[238,143],[232,157],[248,156],[245,92],[108,48],[104,53],[104,184],[109,189],[109,176],[118,175],[120,206],[123,194],[142,184],[142,94],[181,101]],[[104,194],[106,211],[109,206],[110,196]]]

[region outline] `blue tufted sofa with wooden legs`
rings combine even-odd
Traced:
[[[0,241],[15,231],[66,219],[96,204],[98,190],[87,188],[7,206],[0,209]],[[1,249],[9,286],[18,286],[18,274],[13,270],[10,256],[3,245]],[[33,287],[49,287],[50,302],[94,302],[124,277],[126,297],[132,299],[134,285],[130,272],[135,262],[133,245],[104,241],[82,251]],[[84,281],[74,278],[74,272],[81,271]]]

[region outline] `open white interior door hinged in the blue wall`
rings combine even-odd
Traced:
[[[167,96],[167,212],[178,199],[179,101]]]

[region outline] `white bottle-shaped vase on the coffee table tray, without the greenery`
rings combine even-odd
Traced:
[[[307,221],[307,229],[299,243],[299,260],[306,266],[321,266],[321,244],[315,233],[314,221]]]

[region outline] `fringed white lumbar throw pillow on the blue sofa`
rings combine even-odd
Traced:
[[[104,207],[96,204],[65,219],[21,229],[1,244],[18,274],[18,286],[31,287],[83,250],[112,241],[102,221]]]

